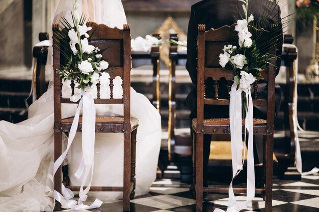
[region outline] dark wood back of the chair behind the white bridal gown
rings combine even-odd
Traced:
[[[110,99],[100,98],[100,85],[97,86],[97,96],[94,99],[95,104],[123,104],[124,108],[124,125],[128,125],[125,130],[129,131],[130,124],[130,26],[124,24],[124,29],[110,28],[104,24],[88,23],[92,27],[89,31],[91,36],[90,44],[98,47],[102,52],[102,59],[109,63],[106,72],[110,74]],[[57,26],[54,29],[54,70],[60,68],[61,53],[59,46],[58,35],[55,33],[59,30]],[[114,99],[113,95],[113,80],[119,76],[122,79],[123,97]],[[61,121],[61,105],[62,103],[74,103],[69,98],[64,98],[62,95],[62,80],[59,74],[54,74],[54,99],[55,99],[55,122]],[[71,82],[72,95],[74,94],[75,84]]]

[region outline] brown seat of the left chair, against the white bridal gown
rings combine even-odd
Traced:
[[[73,123],[74,117],[64,118],[61,120],[61,130],[69,131]],[[124,130],[124,117],[123,116],[96,116],[95,119],[95,132],[103,133],[123,133]],[[130,118],[130,132],[137,129],[139,126],[139,119],[131,117]],[[77,132],[82,131],[82,116],[78,119]]]

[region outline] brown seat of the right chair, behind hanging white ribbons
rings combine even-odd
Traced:
[[[243,118],[243,129],[245,126],[245,119]],[[266,131],[273,132],[273,130],[267,128],[267,120],[261,118],[253,118],[254,134],[265,134]],[[197,118],[192,120],[192,128],[196,131],[197,129]],[[273,128],[273,127],[272,127]],[[229,118],[209,118],[204,119],[203,133],[216,133],[224,134],[230,133]],[[269,134],[266,133],[266,134]]]

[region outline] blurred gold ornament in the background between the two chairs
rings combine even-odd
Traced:
[[[173,20],[171,16],[169,16],[163,24],[156,29],[156,34],[162,35],[162,40],[170,39],[170,34],[178,34],[178,40],[179,41],[187,41],[187,36],[184,33],[183,29],[181,29],[177,23]],[[164,43],[162,45],[162,48],[160,51],[160,57],[161,60],[166,64],[166,66],[169,66],[169,52],[170,52],[170,44]]]

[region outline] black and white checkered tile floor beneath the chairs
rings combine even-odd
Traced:
[[[189,191],[190,185],[171,179],[161,179],[153,183],[151,191],[131,200],[132,212],[192,212],[195,199]],[[203,211],[213,211],[216,207],[226,210],[228,195],[209,194],[203,202]],[[237,197],[244,201],[243,196]],[[104,202],[98,209],[90,211],[122,211],[122,201]],[[262,198],[256,197],[243,211],[264,211]],[[301,181],[274,179],[273,212],[319,212],[319,174],[303,176]]]

